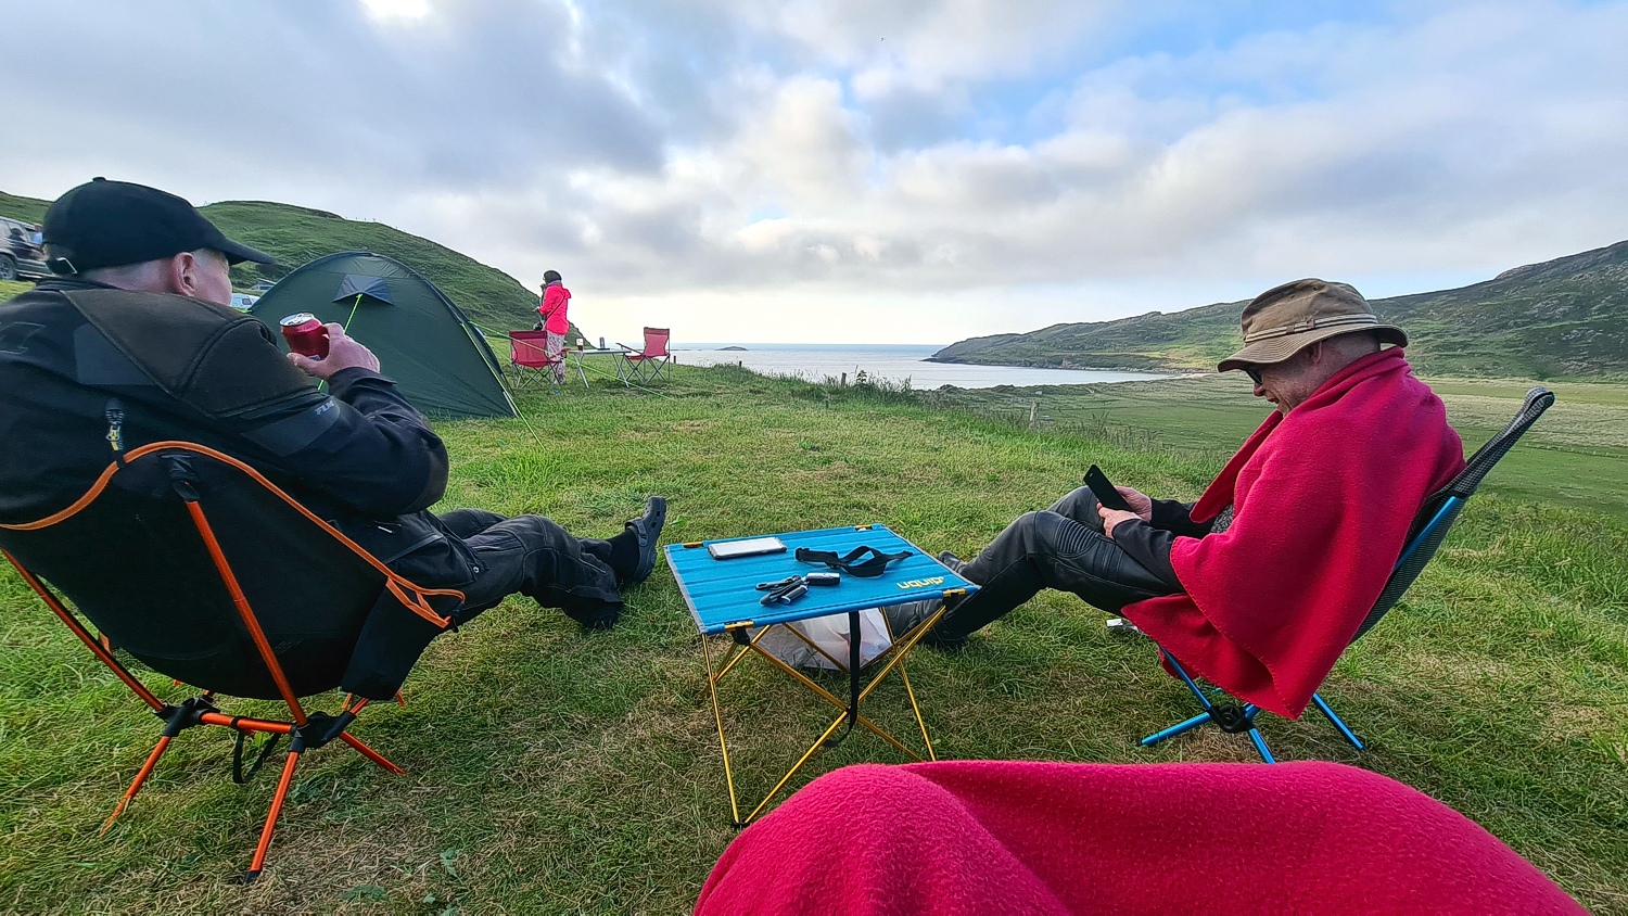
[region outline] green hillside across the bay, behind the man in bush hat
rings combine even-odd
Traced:
[[[1485,283],[1374,299],[1408,330],[1408,360],[1434,376],[1628,377],[1628,242],[1517,267]],[[1244,303],[1029,334],[974,337],[946,363],[1214,369],[1239,347]]]

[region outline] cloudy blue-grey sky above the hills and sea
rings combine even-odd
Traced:
[[[431,238],[589,335],[949,343],[1628,239],[1628,3],[0,0],[0,190]],[[29,88],[31,86],[31,88]]]

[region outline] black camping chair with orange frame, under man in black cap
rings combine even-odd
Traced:
[[[246,783],[288,740],[277,792],[246,882],[259,877],[300,757],[334,740],[391,773],[399,766],[350,734],[371,700],[400,698],[430,639],[464,595],[409,582],[252,467],[189,443],[153,443],[109,465],[67,509],[0,524],[0,552],[164,727],[103,831],[182,731],[238,735],[233,779]],[[72,602],[72,610],[63,595]],[[78,618],[101,631],[96,636]],[[168,703],[114,656],[202,688]],[[300,698],[344,688],[337,714]],[[280,700],[288,718],[221,711],[221,696]],[[246,740],[265,734],[244,774]]]

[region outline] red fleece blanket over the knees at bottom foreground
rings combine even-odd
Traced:
[[[724,851],[695,913],[1582,913],[1464,815],[1337,763],[861,765]]]

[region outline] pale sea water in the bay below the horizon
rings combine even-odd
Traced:
[[[744,350],[723,350],[731,343],[689,343],[672,350],[687,366],[739,363],[770,376],[798,376],[812,382],[863,371],[873,379],[910,381],[915,389],[995,387],[995,386],[1083,386],[1159,379],[1153,373],[1101,373],[1094,369],[1032,369],[1027,366],[977,366],[970,363],[928,363],[943,345],[933,343],[739,343]]]

